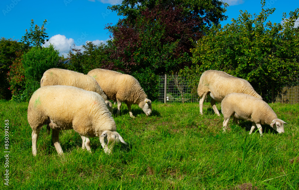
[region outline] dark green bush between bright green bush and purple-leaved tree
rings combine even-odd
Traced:
[[[106,45],[100,43],[95,45],[92,42],[87,42],[81,49],[73,48],[73,52],[69,52],[71,58],[71,65],[68,69],[87,74],[90,70],[95,68],[106,68],[105,61],[108,59],[106,52]]]

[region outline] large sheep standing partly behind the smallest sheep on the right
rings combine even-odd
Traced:
[[[222,99],[232,92],[244,93],[254,96],[258,99],[262,97],[257,94],[247,80],[234,77],[223,71],[208,70],[202,73],[199,79],[197,94],[201,98],[199,100],[199,112],[202,113],[202,106],[208,94],[211,96],[211,105],[214,112],[220,116],[216,107],[216,102],[221,103]]]

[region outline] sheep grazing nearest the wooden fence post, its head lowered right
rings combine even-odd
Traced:
[[[152,101],[141,88],[138,80],[128,74],[106,69],[93,69],[87,73],[100,84],[108,99],[117,101],[117,113],[120,113],[121,102],[128,106],[130,117],[135,118],[131,111],[131,104],[137,104],[149,116],[152,113]]]

